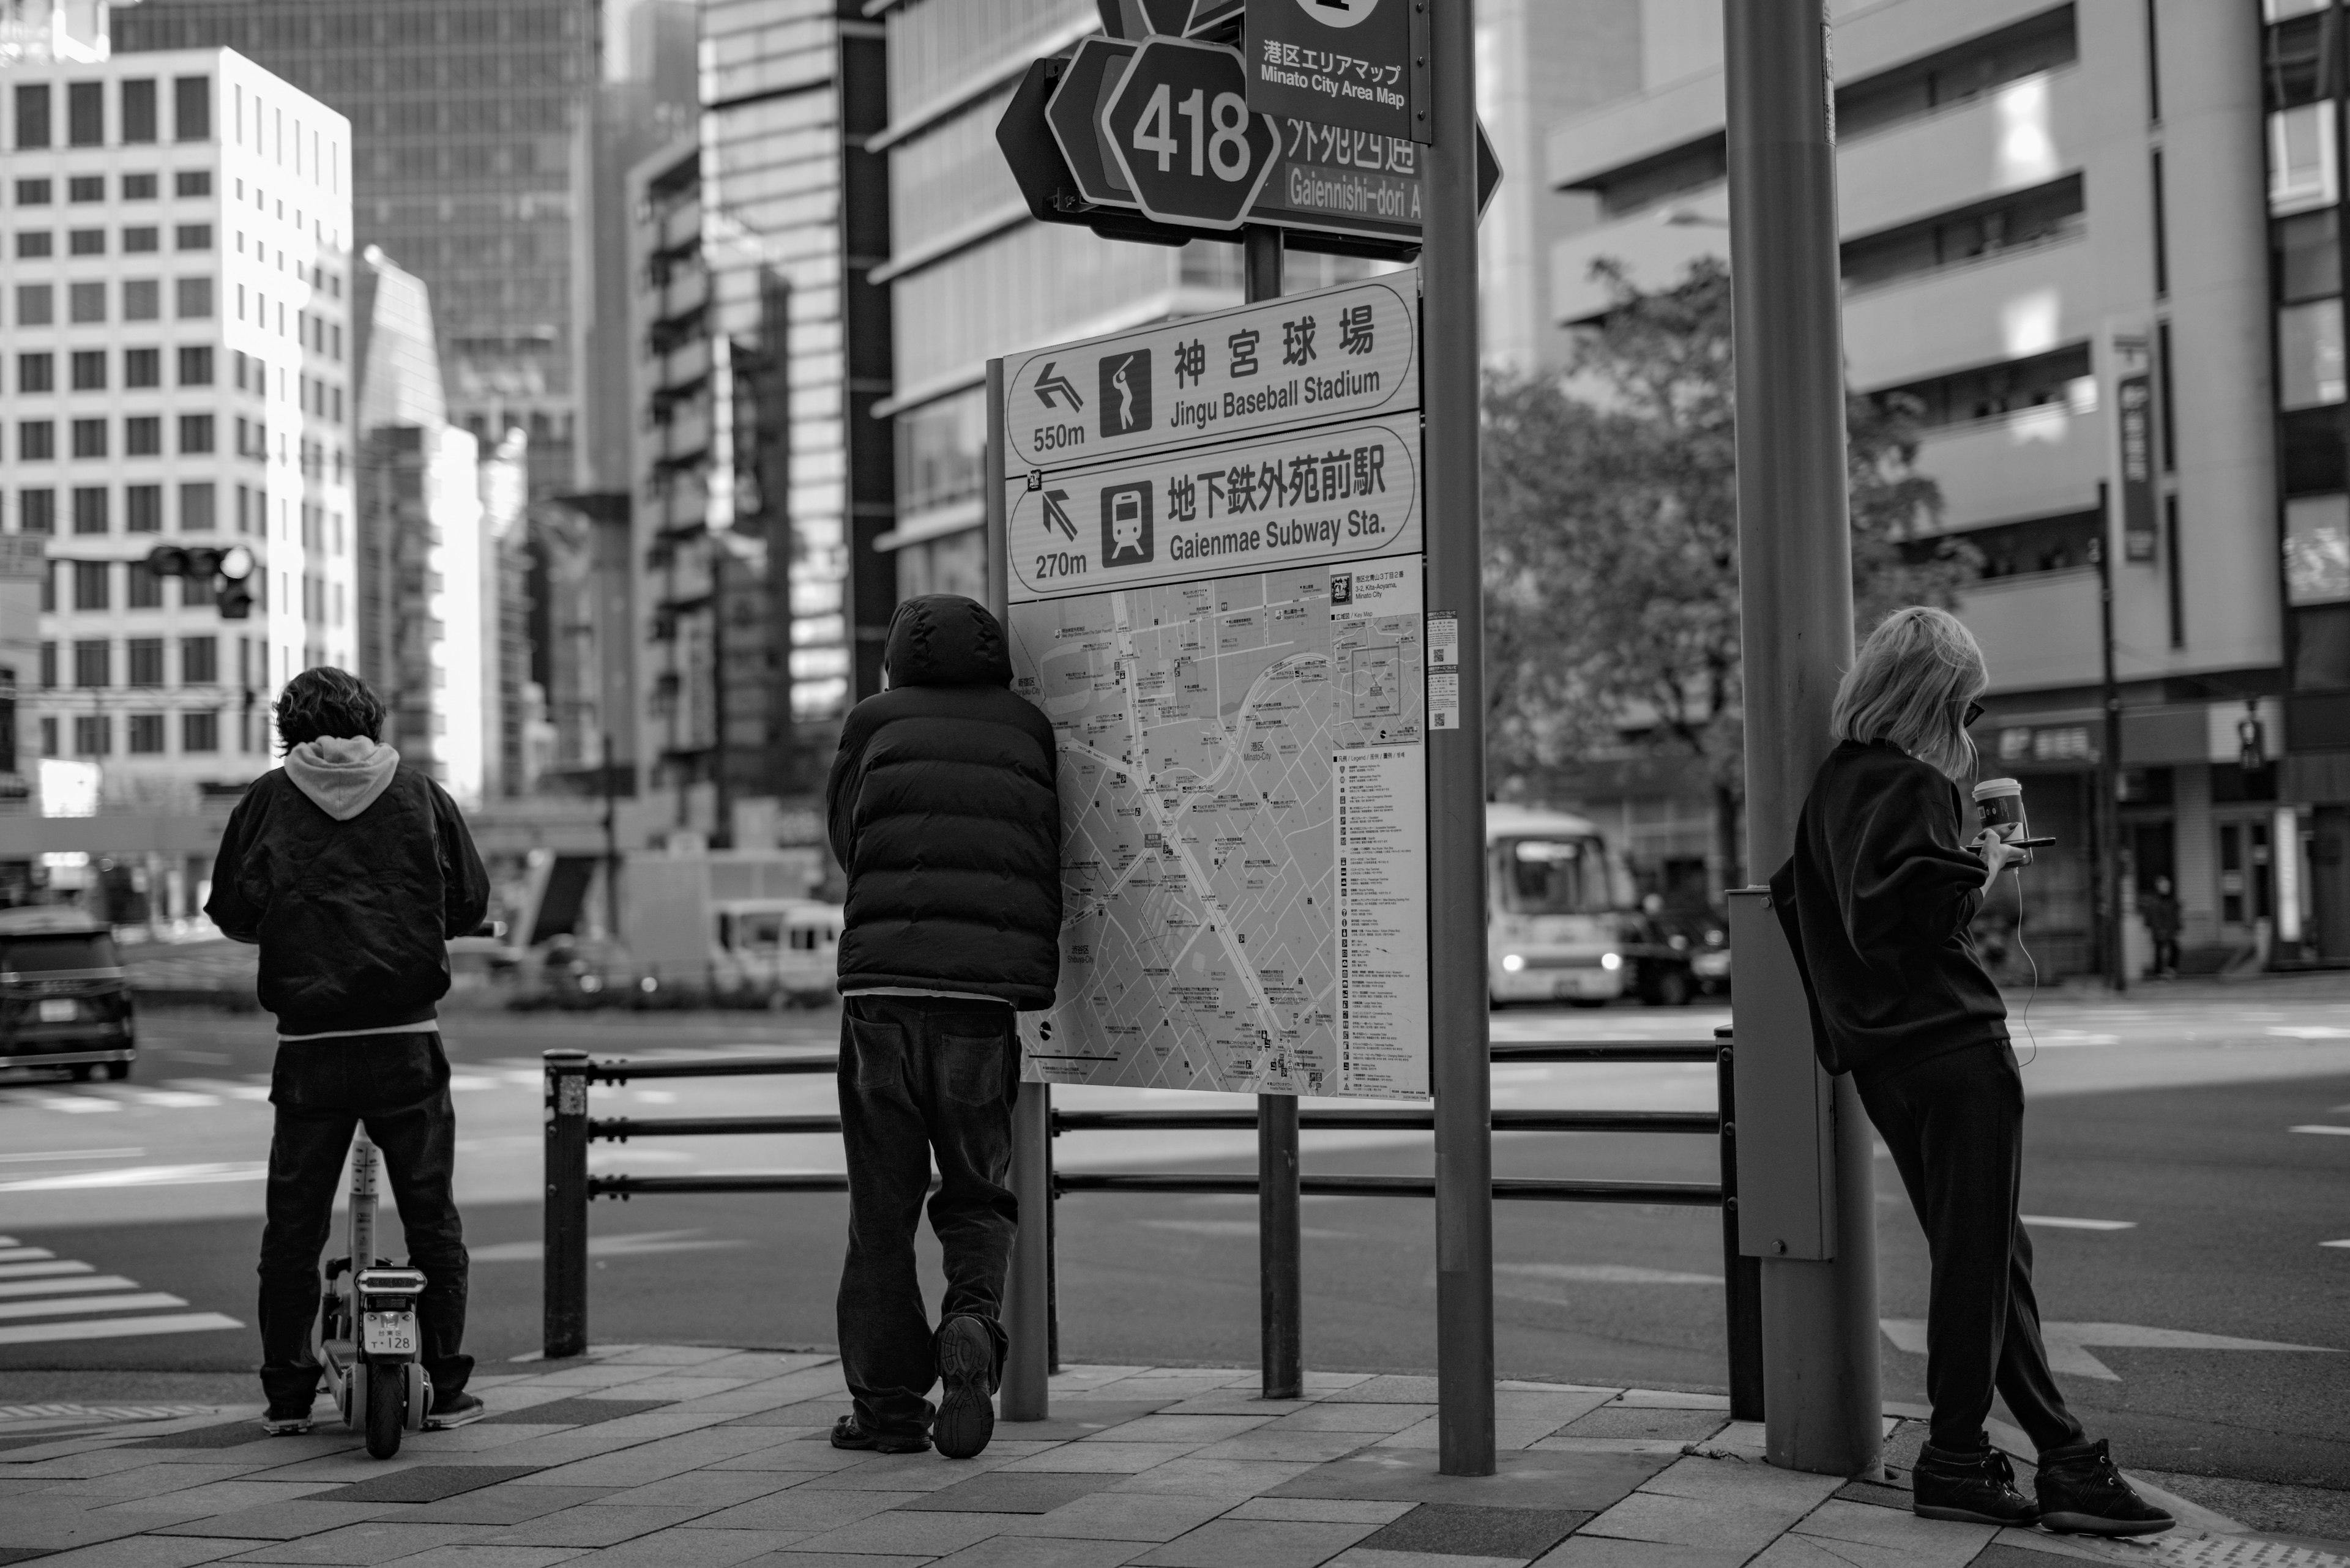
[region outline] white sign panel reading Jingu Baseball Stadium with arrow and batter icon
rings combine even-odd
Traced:
[[[1417,407],[1419,294],[1408,277],[1003,362],[1003,449],[1015,473]]]

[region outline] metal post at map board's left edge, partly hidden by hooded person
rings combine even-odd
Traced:
[[[987,609],[996,621],[1010,614],[1010,557],[1003,515],[1003,360],[987,362]],[[1013,1197],[1020,1232],[1013,1237],[1003,1281],[1003,1420],[1043,1420],[1050,1408],[1050,1225],[1053,1225],[1053,1088],[1020,1084],[1013,1100]]]

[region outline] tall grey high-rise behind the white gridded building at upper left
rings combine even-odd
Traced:
[[[576,484],[597,38],[590,0],[150,0],[113,16],[118,59],[226,45],[350,118],[360,244],[432,289],[454,423],[484,449],[526,430],[540,491]]]

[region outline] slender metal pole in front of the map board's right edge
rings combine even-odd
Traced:
[[[1429,618],[1459,625],[1459,726],[1429,703],[1429,1088],[1436,1093],[1436,1434],[1448,1476],[1490,1476],[1492,1065],[1485,1016],[1485,609],[1478,496],[1476,16],[1429,16],[1422,273]],[[1434,665],[1436,637],[1429,637]],[[1436,677],[1431,675],[1431,686]],[[1434,691],[1431,691],[1434,698]]]

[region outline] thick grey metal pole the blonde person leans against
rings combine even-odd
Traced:
[[[1826,7],[1723,0],[1723,45],[1746,860],[1767,875],[1793,849],[1795,813],[1831,745],[1835,682],[1852,663]],[[1741,1133],[1772,1138],[1753,1121]],[[1882,1453],[1871,1135],[1849,1077],[1835,1079],[1833,1147],[1835,1255],[1762,1260],[1762,1422],[1772,1465],[1849,1476],[1875,1472]]]

